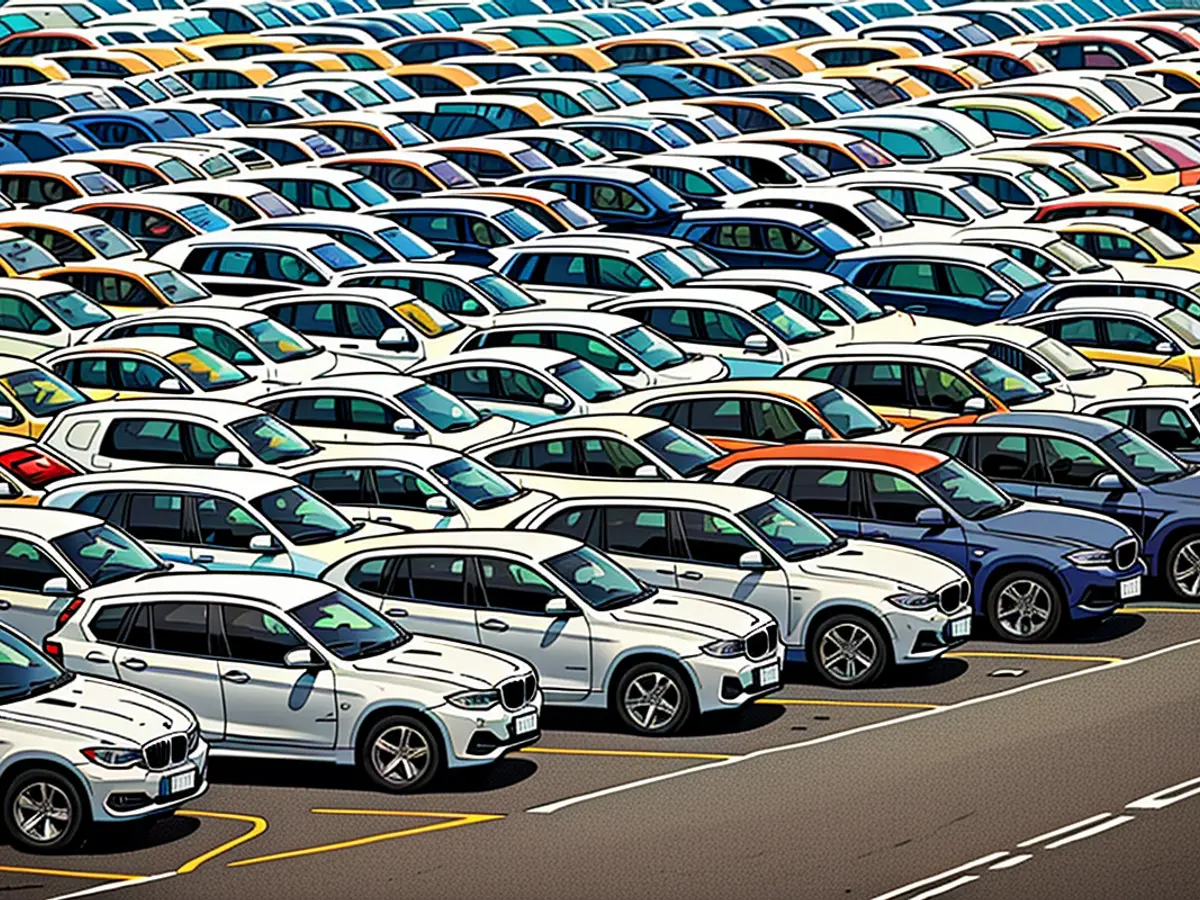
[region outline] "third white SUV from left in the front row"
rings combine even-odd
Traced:
[[[415,631],[527,659],[547,703],[612,709],[641,734],[673,733],[694,713],[780,686],[770,616],[660,590],[569,538],[414,533],[322,577]]]

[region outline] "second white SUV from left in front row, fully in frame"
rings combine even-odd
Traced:
[[[527,662],[416,637],[319,581],[163,575],[80,598],[49,638],[65,664],[186,703],[214,755],[359,766],[413,791],[540,736]]]

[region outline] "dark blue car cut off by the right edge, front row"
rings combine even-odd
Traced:
[[[1152,576],[1200,600],[1200,467],[1118,422],[1066,413],[952,420],[910,440],[973,466],[1016,497],[1103,512],[1141,538]]]

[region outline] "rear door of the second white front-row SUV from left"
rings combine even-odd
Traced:
[[[209,740],[226,734],[221,672],[210,649],[212,607],[205,602],[143,604],[119,646],[97,647],[89,660],[112,654],[126,684],[170,697],[191,709]]]

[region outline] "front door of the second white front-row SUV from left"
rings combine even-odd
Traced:
[[[337,739],[332,670],[284,666],[284,655],[308,642],[276,614],[238,604],[212,608],[221,618],[215,640],[226,739],[275,750],[331,751]]]

